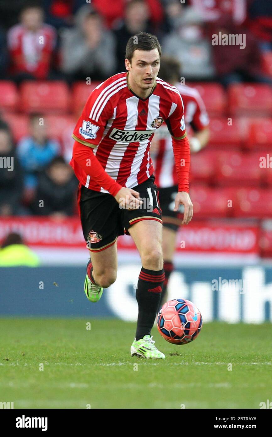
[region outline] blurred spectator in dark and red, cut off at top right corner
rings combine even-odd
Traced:
[[[272,1],[254,0],[249,8],[251,32],[263,52],[272,51]]]

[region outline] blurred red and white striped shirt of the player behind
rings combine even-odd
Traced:
[[[187,85],[176,84],[184,103],[184,117],[187,126],[187,133],[197,132],[209,125],[209,117],[205,104],[195,88]],[[164,124],[156,132],[155,139],[158,141],[158,148],[152,152],[151,157],[155,168],[156,184],[158,187],[166,188],[178,184],[176,165],[172,151],[172,138],[168,128]]]

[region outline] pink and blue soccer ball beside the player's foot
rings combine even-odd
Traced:
[[[186,299],[174,299],[162,305],[157,327],[161,336],[173,344],[186,344],[196,339],[202,326],[199,309]]]

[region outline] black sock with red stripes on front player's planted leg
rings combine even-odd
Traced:
[[[158,303],[161,300],[164,270],[154,271],[142,267],[139,276],[136,299],[139,313],[136,330],[136,340],[150,335],[157,314]]]

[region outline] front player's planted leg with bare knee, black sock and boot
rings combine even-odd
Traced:
[[[131,354],[147,358],[165,358],[155,347],[151,337],[164,281],[162,223],[142,220],[135,223],[129,232],[138,248],[142,263],[136,290],[138,321]]]

